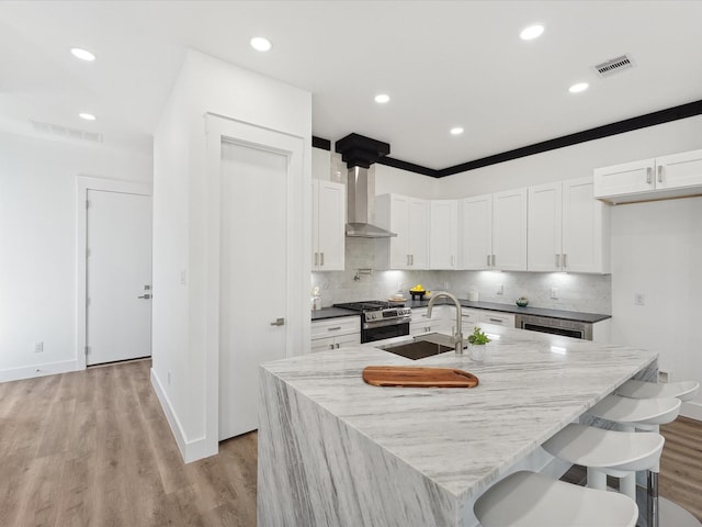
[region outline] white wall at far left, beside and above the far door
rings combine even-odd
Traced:
[[[0,133],[0,381],[76,369],[79,175],[150,182],[151,155]]]

